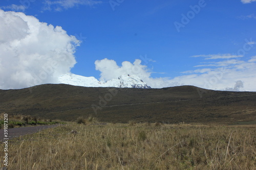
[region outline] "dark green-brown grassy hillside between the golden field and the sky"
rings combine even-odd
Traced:
[[[119,88],[106,107],[95,114],[91,105],[99,105],[99,96],[104,98],[109,88],[46,84],[30,90],[0,90],[0,112],[61,120],[92,114],[102,122],[115,123],[134,119],[137,122],[231,124],[256,119],[256,92],[214,91],[194,86]]]

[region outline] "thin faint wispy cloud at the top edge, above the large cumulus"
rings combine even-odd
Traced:
[[[69,8],[77,7],[79,5],[86,5],[93,7],[97,4],[101,4],[101,1],[94,0],[45,0],[43,10],[54,10],[54,11],[62,11],[67,10]]]

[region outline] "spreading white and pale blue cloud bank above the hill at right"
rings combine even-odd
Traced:
[[[254,76],[254,72],[256,72],[256,56],[250,57],[247,61],[230,59],[198,66],[202,68],[184,71],[182,73],[186,75],[169,81],[214,90],[254,91],[256,89],[254,83],[256,81]],[[209,68],[209,66],[214,67]]]

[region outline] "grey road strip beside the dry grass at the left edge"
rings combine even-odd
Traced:
[[[22,135],[27,135],[35,133],[44,129],[57,127],[58,125],[43,125],[43,126],[33,126],[33,127],[23,127],[23,128],[11,128],[8,129],[8,138],[19,137]],[[0,141],[4,140],[4,129],[0,129]]]

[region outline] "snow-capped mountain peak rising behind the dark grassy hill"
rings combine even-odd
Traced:
[[[118,79],[98,81],[94,77],[84,77],[75,74],[65,74],[58,78],[59,83],[84,87],[120,87],[120,88],[151,88],[138,76],[122,75]]]

